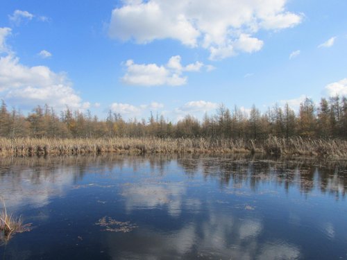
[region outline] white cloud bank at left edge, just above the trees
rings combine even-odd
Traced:
[[[49,67],[28,67],[6,47],[8,28],[0,28],[0,94],[10,103],[33,107],[49,104],[58,109],[66,105],[74,109],[87,107],[74,91],[65,73],[56,73]]]

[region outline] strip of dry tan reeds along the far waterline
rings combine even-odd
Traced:
[[[0,156],[84,155],[101,153],[262,153],[347,158],[347,141],[269,137],[265,140],[167,138],[33,139],[0,138]]]

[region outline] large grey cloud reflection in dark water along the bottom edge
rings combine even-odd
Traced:
[[[107,243],[112,259],[298,259],[301,256],[294,244],[261,241],[262,229],[260,220],[211,214],[202,223],[185,224],[174,232],[144,228],[131,236],[131,242],[126,240],[128,237],[120,241],[110,235]]]

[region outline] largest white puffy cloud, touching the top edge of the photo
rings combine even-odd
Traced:
[[[300,24],[303,15],[287,11],[287,1],[178,0],[174,6],[168,0],[124,1],[112,10],[109,35],[139,44],[171,38],[208,49],[212,60],[223,59],[262,49],[264,42],[255,37],[260,30]]]

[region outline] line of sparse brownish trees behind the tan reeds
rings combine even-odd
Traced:
[[[106,119],[98,119],[88,110],[67,107],[56,112],[49,105],[35,107],[27,115],[1,101],[0,136],[7,138],[102,138],[102,137],[207,137],[232,139],[265,139],[276,137],[347,138],[347,98],[321,98],[319,104],[305,98],[298,113],[285,104],[269,107],[266,112],[253,105],[246,113],[238,107],[230,110],[221,104],[213,115],[207,113],[199,121],[187,115],[177,123],[164,116],[129,119],[109,111]]]

